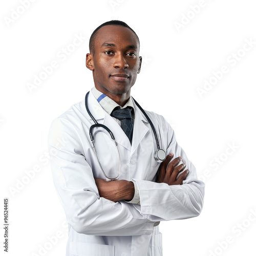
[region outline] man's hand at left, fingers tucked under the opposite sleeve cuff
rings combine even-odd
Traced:
[[[95,178],[99,190],[99,196],[113,202],[132,200],[134,197],[134,184],[127,180],[105,181]]]

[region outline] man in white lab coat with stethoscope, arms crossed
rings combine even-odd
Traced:
[[[153,112],[145,117],[130,96],[141,68],[139,48],[125,23],[99,26],[86,59],[95,87],[51,125],[52,175],[69,223],[67,255],[160,256],[159,222],[196,217],[202,210],[204,184],[172,127]],[[95,121],[113,133],[117,147],[98,126],[93,147],[89,132]],[[167,154],[161,164],[157,140]]]

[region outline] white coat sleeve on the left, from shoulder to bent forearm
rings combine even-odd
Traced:
[[[49,133],[54,185],[68,223],[78,233],[99,236],[151,234],[154,222],[132,204],[99,197],[79,134],[70,121],[55,119]]]

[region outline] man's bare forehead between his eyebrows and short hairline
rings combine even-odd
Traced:
[[[116,47],[135,45],[139,48],[139,41],[136,34],[129,28],[120,25],[107,25],[100,28],[95,37],[95,50],[108,42]]]

